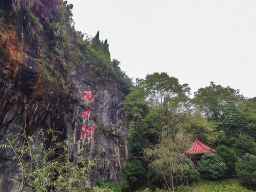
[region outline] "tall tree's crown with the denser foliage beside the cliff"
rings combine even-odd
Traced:
[[[180,84],[166,73],[137,79],[137,86],[125,101],[130,120],[127,139],[149,139],[155,143],[162,131],[175,135],[190,108],[189,91],[187,84]]]

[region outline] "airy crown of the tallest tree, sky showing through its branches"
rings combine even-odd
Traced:
[[[150,114],[156,117],[161,130],[173,130],[183,120],[183,114],[190,109],[188,84],[180,84],[177,78],[167,73],[146,75],[138,84],[146,93]]]

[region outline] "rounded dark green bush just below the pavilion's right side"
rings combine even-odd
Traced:
[[[216,153],[205,153],[198,162],[198,170],[208,179],[221,179],[227,176],[227,165]]]

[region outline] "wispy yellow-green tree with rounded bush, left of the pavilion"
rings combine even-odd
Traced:
[[[174,186],[183,182],[191,182],[197,179],[197,172],[192,161],[188,163],[182,157],[184,148],[188,148],[191,140],[181,130],[172,137],[166,132],[161,133],[160,142],[145,149],[145,157],[149,158],[148,177],[154,185],[166,186],[174,191]],[[192,169],[191,169],[192,166]],[[189,176],[190,175],[190,176]],[[195,175],[195,178],[191,177]],[[186,178],[187,177],[187,178]]]

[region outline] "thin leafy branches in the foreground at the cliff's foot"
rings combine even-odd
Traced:
[[[94,162],[80,155],[75,163],[71,162],[68,146],[74,141],[58,142],[57,139],[57,132],[41,130],[33,136],[10,135],[6,143],[0,145],[13,151],[12,159],[21,171],[19,190],[74,191],[83,188],[81,183],[88,181],[88,171]]]

